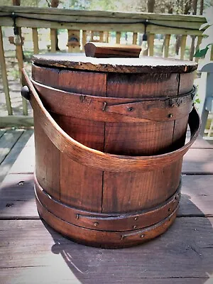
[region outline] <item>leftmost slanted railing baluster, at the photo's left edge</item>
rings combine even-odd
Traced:
[[[8,84],[7,75],[6,75],[6,62],[4,58],[4,45],[3,45],[1,27],[0,27],[0,63],[1,63],[1,77],[2,77],[2,83],[3,83],[4,94],[5,94],[5,99],[6,99],[6,110],[9,115],[12,115],[13,110],[11,107],[9,84]]]

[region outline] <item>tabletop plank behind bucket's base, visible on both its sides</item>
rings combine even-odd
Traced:
[[[184,175],[178,217],[213,217],[213,175]],[[0,219],[38,219],[33,174],[7,175],[0,187]]]

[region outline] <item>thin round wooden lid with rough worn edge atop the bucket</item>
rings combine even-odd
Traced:
[[[143,56],[141,58],[90,58],[83,53],[48,53],[34,55],[33,63],[45,67],[122,73],[185,73],[197,69],[187,60]]]

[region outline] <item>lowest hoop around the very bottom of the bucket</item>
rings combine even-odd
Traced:
[[[163,234],[168,227],[173,224],[177,216],[178,207],[162,221],[148,226],[144,229],[136,229],[133,231],[97,231],[95,229],[86,229],[81,226],[70,224],[59,219],[54,214],[50,213],[43,204],[40,203],[38,197],[35,196],[38,212],[40,216],[61,234],[68,236],[80,244],[89,244],[90,246],[98,246],[102,248],[123,248],[141,244],[144,241]]]

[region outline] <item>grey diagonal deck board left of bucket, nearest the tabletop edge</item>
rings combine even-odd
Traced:
[[[13,148],[11,148],[11,151],[0,165],[0,183],[2,182],[2,180],[4,180],[6,174],[9,172],[11,166],[13,165],[13,163],[15,163],[18,155],[21,153],[22,149],[26,145],[26,142],[32,135],[33,130],[23,131],[21,137],[14,144]]]

